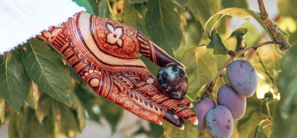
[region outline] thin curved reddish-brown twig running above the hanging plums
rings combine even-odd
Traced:
[[[268,41],[268,42],[264,42],[264,43],[260,43],[245,49],[242,49],[240,51],[234,52],[234,56],[232,56],[224,65],[223,67],[219,70],[219,72],[217,73],[217,75],[215,76],[215,78],[213,79],[213,81],[210,82],[208,89],[206,89],[203,93],[203,95],[200,97],[200,99],[204,99],[207,93],[212,93],[213,92],[213,87],[216,84],[217,78],[222,75],[222,72],[224,70],[224,68],[233,60],[235,59],[237,56],[239,56],[240,54],[243,54],[249,50],[257,50],[259,47],[264,46],[264,45],[269,45],[269,44],[278,44],[278,45],[282,45],[279,41],[274,40],[274,41]]]

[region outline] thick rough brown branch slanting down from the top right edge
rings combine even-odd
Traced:
[[[274,25],[272,20],[269,18],[268,13],[266,12],[265,5],[263,0],[257,0],[260,10],[260,18],[268,27],[271,32],[271,36],[277,39],[281,43],[281,50],[288,50],[291,46],[281,32],[278,30],[278,25]]]

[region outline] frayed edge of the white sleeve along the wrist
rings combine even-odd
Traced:
[[[67,22],[69,18],[74,18],[74,15],[75,15],[76,13],[80,13],[80,12],[84,12],[84,11],[87,11],[87,10],[86,10],[85,8],[83,8],[83,7],[80,7],[80,9],[78,9],[77,11],[74,11],[72,15],[69,15],[69,17],[67,17],[67,18],[65,18],[65,19],[61,19],[61,21],[59,21],[59,22],[56,23],[56,24],[49,25],[48,27],[46,27],[46,29],[41,30],[41,31],[39,31],[39,32],[36,33],[36,34],[33,34],[33,36],[30,36],[30,37],[26,38],[26,40],[24,40],[23,42],[20,42],[20,43],[18,43],[18,44],[14,44],[14,46],[12,46],[12,47],[8,47],[8,48],[3,49],[3,50],[0,49],[0,55],[3,55],[5,52],[14,50],[14,48],[16,48],[18,45],[23,45],[23,44],[25,44],[25,43],[28,43],[28,40],[29,40],[29,39],[36,38],[36,35],[41,35],[41,32],[43,32],[43,31],[49,31],[49,30],[51,30],[51,29],[52,29],[52,26],[55,26],[55,27],[59,27],[59,26],[61,26],[61,24]]]

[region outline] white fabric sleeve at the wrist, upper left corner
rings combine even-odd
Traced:
[[[4,0],[0,4],[0,54],[60,26],[75,13],[86,11],[71,0]]]

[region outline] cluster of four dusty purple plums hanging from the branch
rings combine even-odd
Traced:
[[[246,109],[246,97],[256,92],[258,80],[254,67],[244,60],[232,62],[227,67],[228,86],[218,91],[218,106],[214,99],[205,98],[195,105],[198,116],[198,128],[208,130],[214,137],[230,137],[233,120],[243,117]]]

